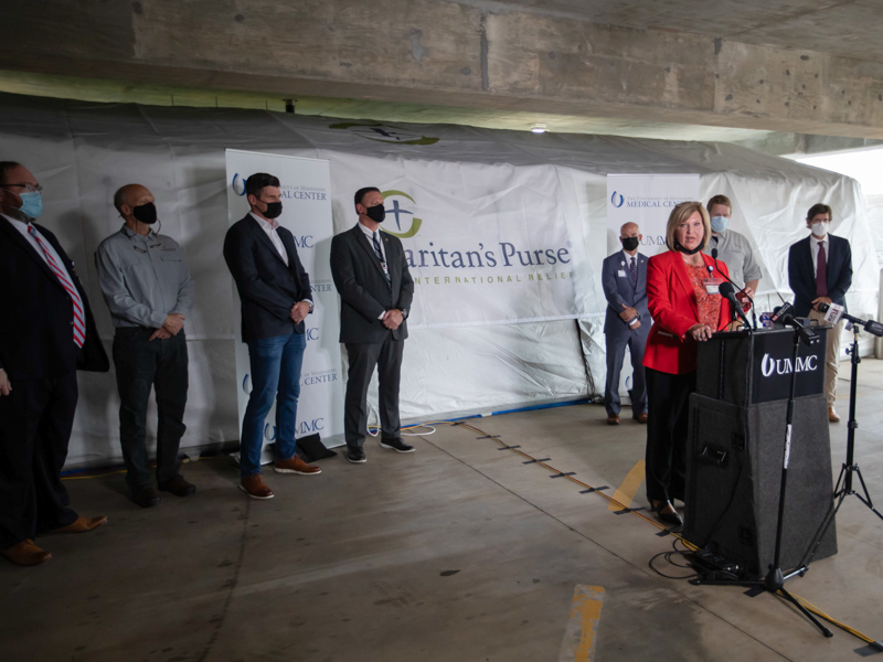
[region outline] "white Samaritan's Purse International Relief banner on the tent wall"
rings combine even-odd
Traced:
[[[404,167],[351,154],[347,163],[333,156],[331,162],[337,191],[368,181],[385,199],[383,229],[402,239],[414,278],[409,329],[587,314],[574,280],[586,268],[582,218],[554,167],[428,160]],[[338,232],[357,222],[350,195]]]

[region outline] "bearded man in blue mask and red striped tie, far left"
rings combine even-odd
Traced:
[[[0,161],[0,553],[19,565],[52,557],[33,538],[84,533],[61,481],[76,412],[76,371],[107,372],[74,263],[35,224],[42,186],[20,163]]]

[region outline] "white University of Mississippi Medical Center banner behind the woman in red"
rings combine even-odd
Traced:
[[[621,250],[619,228],[637,223],[643,235],[638,249],[647,257],[667,250],[666,223],[679,202],[698,200],[699,174],[608,174],[608,255]]]

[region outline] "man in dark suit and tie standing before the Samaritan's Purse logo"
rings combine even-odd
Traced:
[[[340,295],[340,342],[347,346],[343,435],[347,459],[365,461],[368,386],[374,367],[380,382],[380,421],[383,448],[412,452],[402,441],[398,384],[407,338],[407,316],[414,280],[398,238],[380,232],[385,217],[383,195],[375,188],[355,193],[355,227],[331,241],[331,275]]]

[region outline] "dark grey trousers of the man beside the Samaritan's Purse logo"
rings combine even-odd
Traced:
[[[402,424],[398,419],[398,384],[405,341],[393,340],[387,333],[383,342],[345,343],[350,369],[347,373],[347,395],[343,401],[343,438],[350,448],[361,448],[368,428],[368,387],[374,366],[380,382],[380,425],[382,439],[397,439]]]

